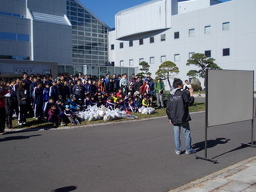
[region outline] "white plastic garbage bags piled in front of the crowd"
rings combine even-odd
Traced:
[[[139,109],[139,112],[141,114],[150,115],[154,113],[154,108],[145,108],[144,106]],[[130,115],[134,118],[137,118],[135,115]],[[81,118],[81,121],[97,121],[97,120],[104,120],[105,122],[112,121],[119,118],[129,118],[129,115],[126,115],[126,111],[121,111],[119,108],[116,108],[115,110],[111,110],[109,108],[106,108],[104,105],[97,107],[94,106],[88,106],[88,108],[85,111],[79,111],[78,117]]]

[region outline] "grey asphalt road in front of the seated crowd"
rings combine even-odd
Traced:
[[[192,115],[191,127],[204,156],[204,113]],[[0,135],[0,191],[165,192],[256,155],[240,147],[251,142],[251,122],[208,133],[208,157],[217,164],[177,156],[167,118]]]

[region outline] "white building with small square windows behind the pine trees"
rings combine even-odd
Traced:
[[[255,70],[255,8],[255,0],[154,0],[123,10],[109,32],[109,61],[124,67],[146,61],[154,77],[171,60],[182,80],[193,53],[213,57],[223,69]]]

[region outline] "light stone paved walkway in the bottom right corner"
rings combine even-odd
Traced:
[[[256,156],[168,192],[255,192]]]

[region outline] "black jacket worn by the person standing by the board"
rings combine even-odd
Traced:
[[[189,105],[192,105],[194,101],[195,98],[189,96],[189,91],[180,88],[171,91],[168,95],[166,113],[173,125],[180,125],[191,120]]]

